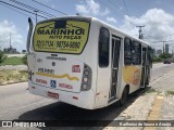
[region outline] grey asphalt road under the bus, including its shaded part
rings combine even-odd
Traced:
[[[174,64],[154,64],[152,81],[174,69]],[[27,83],[0,86],[0,120],[114,120],[137,96],[123,107],[117,103],[101,109],[87,110],[65,103],[30,94]]]

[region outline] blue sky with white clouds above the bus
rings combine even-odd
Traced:
[[[38,4],[46,4],[54,10]],[[5,3],[4,3],[5,2]],[[54,17],[67,15],[94,16],[138,37],[136,26],[142,27],[144,40],[152,48],[162,49],[163,41],[174,50],[174,0],[0,0],[0,48],[10,46],[17,51],[26,50],[28,31],[27,18],[36,22],[34,10],[17,4],[29,5],[47,12]],[[15,5],[34,14],[15,9]],[[23,5],[24,5],[23,4]],[[62,13],[60,13],[60,12]],[[38,13],[39,15],[40,13]],[[41,14],[40,14],[41,15]],[[48,17],[45,15],[45,17]],[[38,16],[38,21],[45,20]]]

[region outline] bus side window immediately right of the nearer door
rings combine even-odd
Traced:
[[[129,38],[124,39],[124,64],[132,64],[132,40]]]

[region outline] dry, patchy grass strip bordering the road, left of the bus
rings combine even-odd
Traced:
[[[27,81],[27,70],[0,70],[0,84]]]

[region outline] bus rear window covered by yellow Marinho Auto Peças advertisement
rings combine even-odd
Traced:
[[[51,20],[38,23],[33,37],[36,52],[71,53],[83,52],[89,34],[90,21]]]

